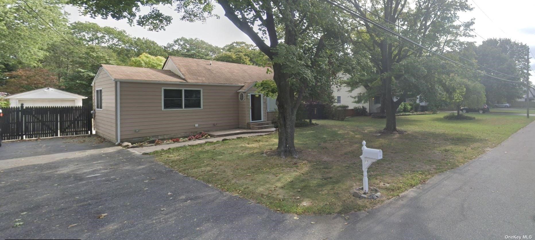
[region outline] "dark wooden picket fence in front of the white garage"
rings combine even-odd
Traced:
[[[85,135],[93,132],[90,106],[2,108],[2,140]]]

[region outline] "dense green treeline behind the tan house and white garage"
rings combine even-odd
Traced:
[[[16,94],[49,86],[90,97],[90,84],[100,64],[161,68],[168,55],[268,64],[265,54],[244,42],[219,47],[180,37],[162,46],[117,28],[68,23],[63,1],[27,2],[44,20],[26,11],[24,3],[0,0],[0,38],[4,40],[0,41],[0,92]]]

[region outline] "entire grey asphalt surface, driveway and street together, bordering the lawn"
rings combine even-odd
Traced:
[[[377,209],[347,214],[347,221],[340,215],[294,219],[272,212],[173,172],[151,156],[135,155],[96,138],[5,143],[0,148],[0,239],[533,236],[533,136],[535,123],[482,157]],[[104,213],[108,215],[97,218]],[[16,222],[24,224],[12,227]]]

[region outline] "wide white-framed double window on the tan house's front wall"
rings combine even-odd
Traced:
[[[162,87],[162,110],[202,109],[202,89]]]

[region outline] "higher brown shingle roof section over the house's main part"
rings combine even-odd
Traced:
[[[273,73],[266,73],[265,67],[174,56],[167,58],[170,60],[188,83],[246,85],[273,79]]]

